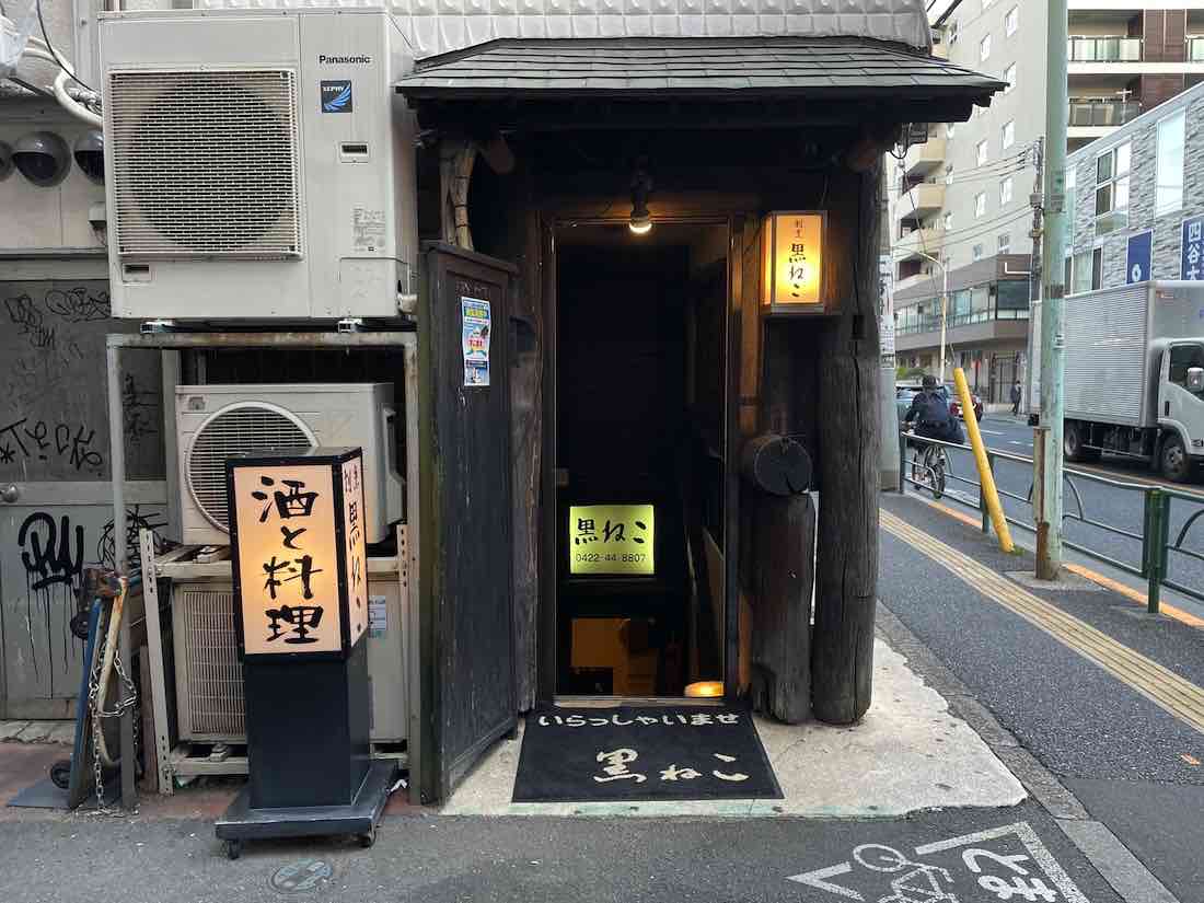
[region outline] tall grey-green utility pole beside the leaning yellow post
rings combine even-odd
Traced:
[[[1056,580],[1062,567],[1062,371],[1066,294],[1067,0],[1049,0],[1045,84],[1045,229],[1041,242],[1041,426],[1044,491],[1037,512],[1037,577]],[[1037,476],[1037,474],[1034,474]]]

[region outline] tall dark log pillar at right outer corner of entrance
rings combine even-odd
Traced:
[[[811,694],[815,716],[851,724],[869,708],[878,591],[878,190],[880,163],[833,173],[828,259],[843,256],[842,313],[820,343],[820,485]],[[846,272],[846,268],[851,270]]]

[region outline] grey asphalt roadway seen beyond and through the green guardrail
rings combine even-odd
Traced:
[[[987,414],[980,424],[982,438],[992,452],[1032,458],[1033,430],[1022,418]],[[972,504],[978,503],[978,470],[969,452],[950,453],[951,477],[948,494]],[[1085,477],[1070,477],[1063,484],[1063,510],[1067,515],[1064,536],[1078,545],[1112,559],[1128,568],[1141,567],[1141,541],[1145,494],[1144,488],[1164,486],[1192,498],[1174,498],[1170,504],[1170,541],[1179,542],[1185,525],[1204,512],[1204,484],[1167,483],[1140,464],[1117,458],[1104,458],[1099,465],[1070,465],[1104,479],[1137,484],[1141,489],[1125,489]],[[996,483],[1003,496],[1008,517],[1020,524],[1032,525],[1033,509],[1026,501],[1032,489],[1032,465],[996,459]],[[975,485],[970,485],[966,480]],[[1198,498],[1199,501],[1196,501]],[[1123,536],[1116,531],[1125,531]],[[1182,548],[1204,555],[1204,515],[1196,520],[1182,537]],[[1179,551],[1168,556],[1169,578],[1184,586],[1204,592],[1204,561]]]

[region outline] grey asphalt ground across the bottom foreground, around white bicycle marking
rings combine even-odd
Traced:
[[[950,840],[955,843],[948,850],[916,849]],[[861,850],[870,867],[855,858],[863,844],[877,845]],[[896,903],[998,903],[1007,897],[984,886],[981,879],[1007,892],[1009,885],[1015,887],[1017,875],[986,854],[1027,857],[1026,889],[1011,891],[1016,903],[1028,898],[1026,893],[1034,901],[1057,903],[1121,903],[1055,821],[1031,802],[1005,810],[934,811],[874,821],[417,815],[386,820],[368,850],[329,838],[265,840],[248,845],[236,862],[220,855],[207,821],[0,822],[0,899],[6,903],[843,903],[887,898]],[[899,866],[899,858],[907,866]],[[314,861],[325,868],[311,869]],[[285,884],[296,890],[281,890],[281,879],[273,886],[278,869],[300,863],[305,864]],[[832,866],[840,873],[828,875],[830,881],[844,893],[790,880]],[[891,896],[892,881],[905,880],[915,870],[920,874],[908,884],[922,887],[931,880],[937,892]],[[1064,881],[1058,881],[1058,873]],[[297,875],[314,875],[308,881],[312,886],[297,887]],[[1034,895],[1037,878],[1050,896]],[[1082,896],[1074,896],[1073,889]]]

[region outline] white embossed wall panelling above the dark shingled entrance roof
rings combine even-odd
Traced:
[[[126,8],[166,6],[130,0]],[[202,8],[386,6],[418,58],[500,37],[872,37],[927,51],[925,0],[199,0]]]

